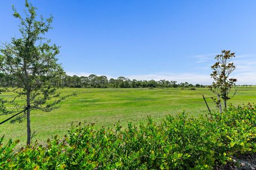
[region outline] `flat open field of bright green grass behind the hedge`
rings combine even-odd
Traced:
[[[215,96],[207,88],[196,90],[166,88],[166,89],[84,89],[65,88],[59,90],[62,95],[77,92],[76,97],[62,101],[60,108],[52,112],[31,112],[31,131],[33,141],[45,142],[54,135],[67,134],[71,122],[95,123],[95,128],[113,126],[120,121],[122,126],[127,122],[139,124],[151,116],[159,121],[165,115],[175,115],[185,111],[190,116],[206,114],[202,95]],[[2,94],[1,97],[4,95]],[[8,96],[5,96],[8,97]],[[217,111],[211,99],[207,99],[212,111]],[[256,88],[239,88],[236,96],[229,100],[234,105],[256,102]],[[8,116],[0,116],[0,121]],[[26,121],[0,125],[0,135],[7,139],[20,139],[26,142]]]

